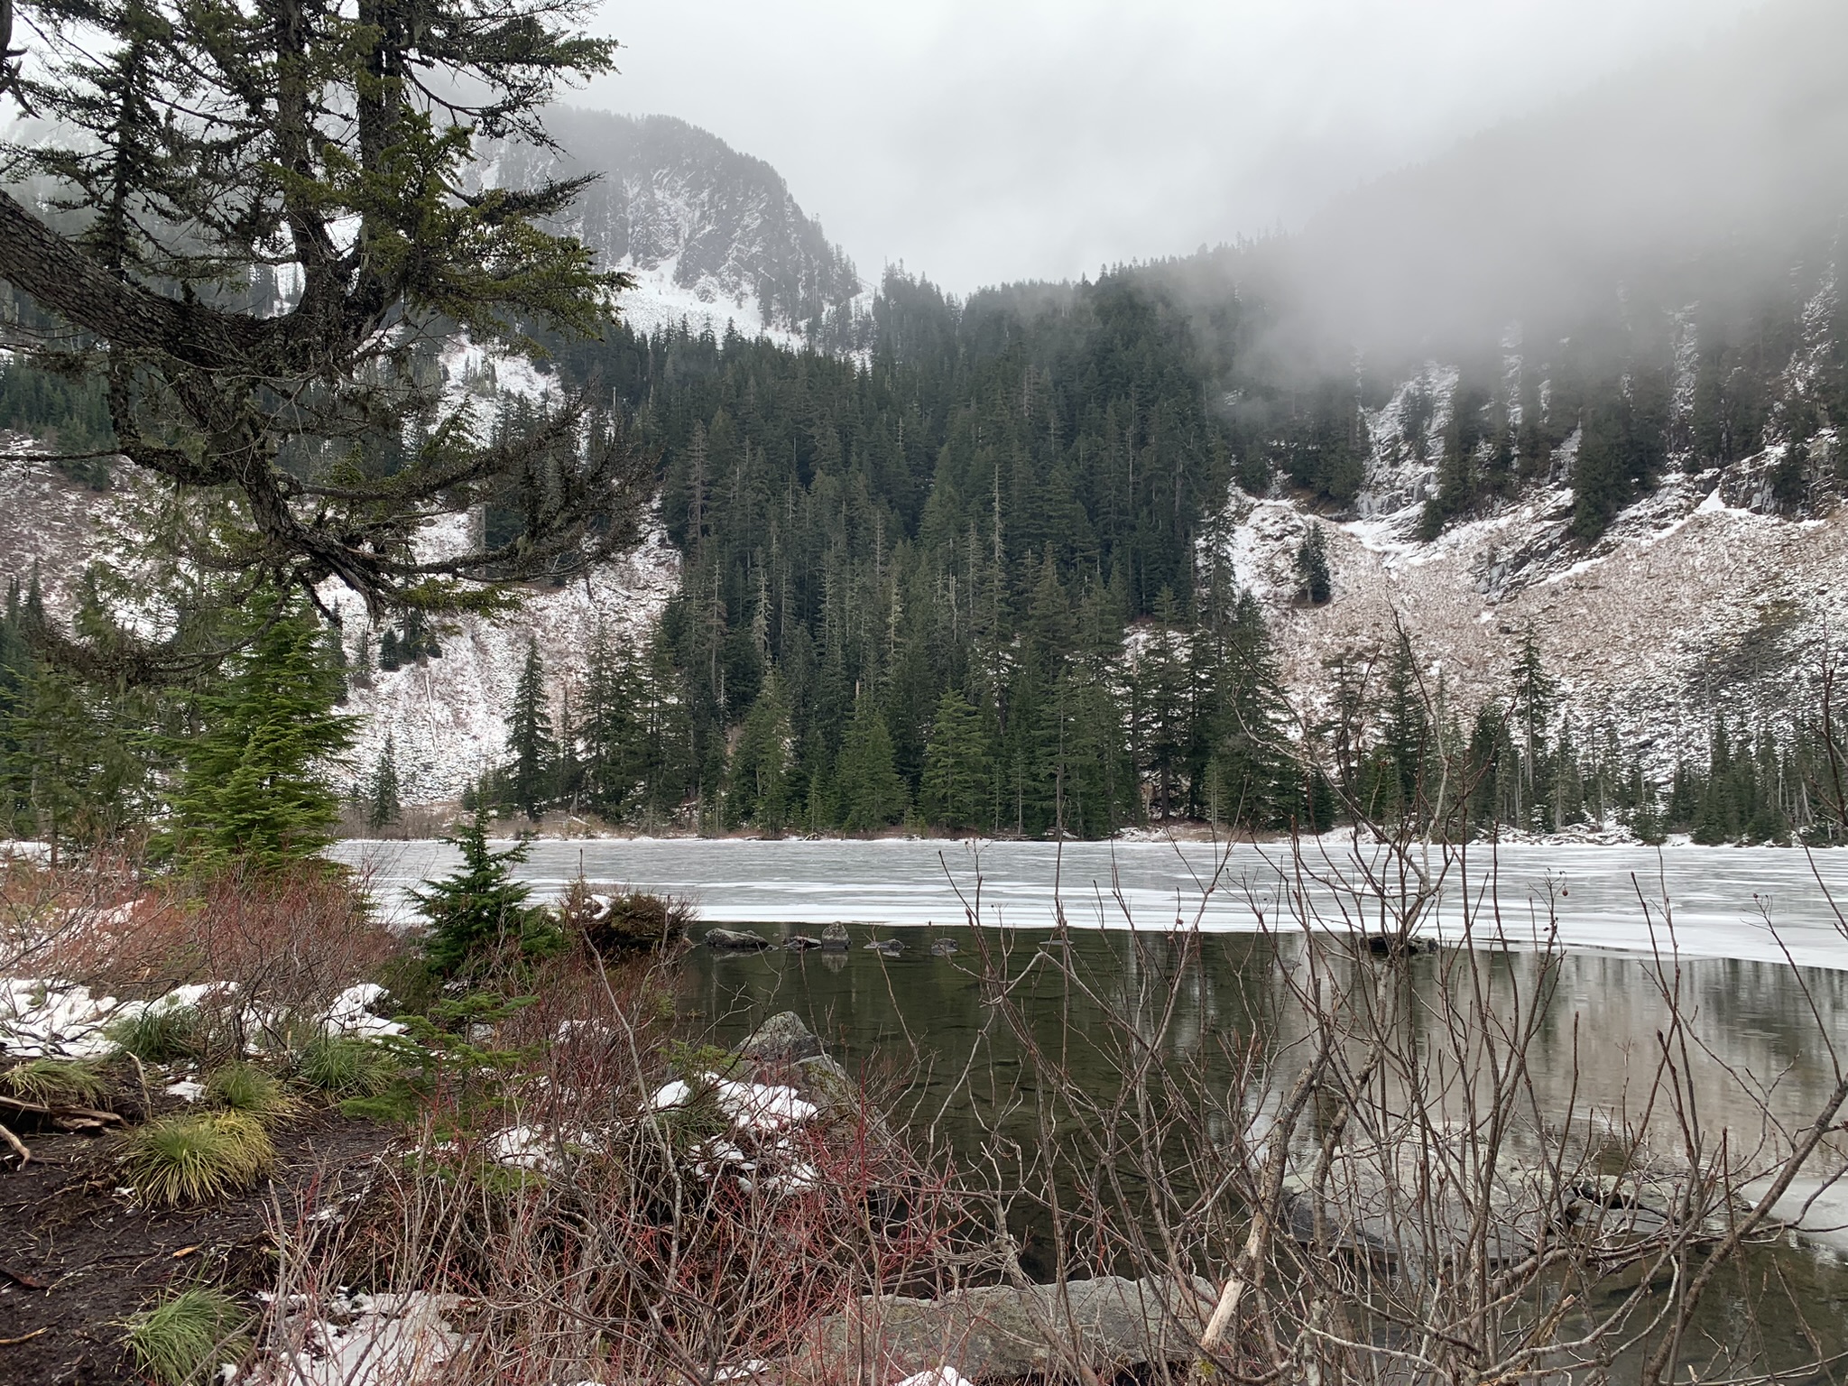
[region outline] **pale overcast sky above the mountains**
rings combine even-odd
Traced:
[[[861,274],[967,292],[1294,225],[1756,0],[608,4],[573,100],[767,159]]]

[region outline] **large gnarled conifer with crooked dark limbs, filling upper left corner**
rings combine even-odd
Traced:
[[[484,578],[575,571],[628,541],[652,482],[639,451],[577,429],[569,408],[477,442],[434,371],[397,368],[401,329],[438,320],[514,349],[536,327],[597,331],[625,277],[545,229],[582,181],[462,187],[479,139],[543,142],[556,89],[608,70],[614,41],[547,0],[360,18],[18,0],[0,26],[15,11],[87,39],[39,44],[0,85],[15,107],[0,120],[0,277],[48,318],[43,355],[89,368],[128,466],[188,497],[237,495],[222,527],[200,527],[207,565],[235,553],[281,588],[334,575],[373,608],[456,608],[480,604]],[[43,131],[22,140],[18,111]],[[281,309],[279,255],[299,288]],[[63,351],[74,340],[81,355]],[[124,371],[135,388],[98,388]],[[423,425],[418,447],[399,442],[388,468],[349,462],[357,432],[383,451],[401,421]],[[327,484],[303,495],[303,471]],[[432,512],[523,475],[547,503],[517,543],[414,543]]]

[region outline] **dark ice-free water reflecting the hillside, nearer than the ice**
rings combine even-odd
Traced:
[[[967,1157],[996,1137],[1039,1138],[1033,1064],[1024,1037],[994,1005],[1002,981],[1020,1002],[1026,1039],[1061,1055],[1100,1100],[1120,1087],[1129,1040],[1111,1033],[1112,1016],[1129,1016],[1135,1035],[1159,1044],[1170,1063],[1227,1088],[1240,1057],[1258,1052],[1271,1066],[1273,1096],[1307,1050],[1310,1026],[1290,1003],[1288,987],[1292,978],[1301,983],[1308,965],[1299,935],[933,931],[930,937],[954,939],[954,957],[931,955],[924,935],[907,935],[898,957],[867,952],[859,944],[872,935],[856,931],[854,948],[833,955],[695,950],[684,1005],[719,1040],[743,1037],[776,1011],[796,1011],[850,1068],[904,1094],[906,1120],[935,1125]],[[1044,950],[1066,959],[1087,985],[1066,985],[1057,968],[1035,967]],[[1371,961],[1349,959],[1347,967],[1349,979],[1379,974]],[[1534,1155],[1545,1125],[1567,1120],[1619,1135],[1647,1131],[1672,1149],[1680,1135],[1674,1105],[1661,1092],[1650,1101],[1667,1063],[1685,1077],[1682,1090],[1709,1142],[1724,1137],[1741,1161],[1769,1157],[1787,1149],[1791,1133],[1835,1087],[1830,1040],[1848,1052],[1848,974],[1776,961],[1567,954],[1547,963],[1504,950],[1478,954],[1475,970],[1462,968],[1454,954],[1412,959],[1406,985],[1412,1003],[1404,1024],[1430,1027],[1417,1040],[1432,1053],[1445,1048],[1443,1020],[1454,1013],[1440,1003],[1440,987],[1480,985],[1501,1015],[1517,1003],[1538,1007],[1526,1052],[1538,1112],[1536,1125],[1512,1146],[1521,1157]],[[1685,1042],[1671,1029],[1676,1013]],[[1432,1081],[1454,1083],[1462,1107],[1475,1077],[1451,1072]],[[1209,1116],[1229,1127],[1249,1122],[1251,1111]],[[1077,1137],[1070,1114],[1063,1120],[1061,1138]],[[1234,1133],[1212,1135],[1223,1140]],[[1831,1140],[1837,1144],[1815,1166],[1824,1177],[1842,1170],[1839,1137]],[[1805,1227],[1844,1223],[1848,1201],[1830,1190]],[[1711,1297],[1700,1314],[1708,1351],[1763,1342],[1761,1369],[1807,1360],[1811,1334],[1824,1353],[1848,1351],[1848,1270],[1820,1242],[1754,1251],[1745,1262],[1748,1279],[1785,1283],[1800,1294],[1796,1301],[1757,1301],[1732,1288]],[[1046,1271],[1048,1262],[1029,1268]],[[1604,1286],[1602,1294],[1610,1299],[1621,1288]],[[1741,1316],[1752,1332],[1735,1331]]]

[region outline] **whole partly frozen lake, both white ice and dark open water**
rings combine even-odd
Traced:
[[[364,865],[397,911],[405,887],[456,859],[427,841],[340,843],[334,854]],[[1284,848],[1201,843],[591,839],[532,843],[519,874],[540,893],[578,874],[665,891],[693,900],[702,926],[745,926],[776,941],[846,924],[846,954],[693,950],[676,983],[680,1013],[697,1031],[736,1042],[793,1009],[848,1068],[894,1094],[904,1120],[972,1159],[996,1142],[1033,1148],[1033,1046],[1061,1053],[1100,1098],[1122,1085],[1122,1052],[1107,1042],[1122,1029],[1112,1002],[1137,1011],[1137,998],[1172,998],[1155,1042],[1177,1066],[1209,1079],[1231,1074],[1242,1044],[1255,1040],[1277,1064],[1273,1083],[1286,1083],[1303,1018],[1279,998],[1308,946],[1301,915],[1323,928],[1377,930],[1379,900],[1364,881],[1390,865],[1331,839],[1308,845],[1301,861]],[[1307,904],[1290,909],[1292,893]],[[1726,1131],[1741,1148],[1774,1148],[1830,1090],[1831,1044],[1848,1053],[1848,942],[1833,900],[1848,900],[1848,854],[1475,846],[1445,870],[1421,931],[1454,942],[1467,930],[1486,944],[1491,991],[1530,1005],[1539,998],[1543,1024],[1526,1070],[1543,1122],[1595,1116],[1672,1146],[1669,1105],[1645,1101],[1672,992],[1687,1024],[1687,1094],[1704,1129]],[[1070,931],[1052,935],[1061,917]],[[976,922],[979,931],[968,928]],[[1538,948],[1549,937],[1562,952],[1550,970]],[[891,939],[904,944],[898,955],[863,946]],[[955,954],[935,955],[939,941]],[[1039,972],[1018,994],[1016,1029],[992,983],[1046,950],[1092,987]],[[1430,1013],[1440,1009],[1443,957],[1408,967],[1417,1005]],[[1083,1133],[1066,1120],[1059,1137]],[[1815,1172],[1826,1181],[1842,1164],[1830,1149]],[[1737,1349],[1735,1364],[1781,1371],[1807,1356],[1805,1334],[1822,1351],[1848,1351],[1848,1198],[1818,1181],[1796,1192],[1815,1196],[1805,1236],[1745,1260],[1750,1279],[1789,1294],[1730,1288],[1711,1297],[1698,1323],[1702,1353]],[[1798,1214],[1794,1201],[1789,1212]],[[1018,1231],[1027,1268],[1046,1273],[1048,1229],[1026,1212]]]

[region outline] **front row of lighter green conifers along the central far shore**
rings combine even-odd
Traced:
[[[1125,638],[1100,593],[1066,601],[1040,569],[1000,699],[935,693],[907,761],[878,689],[850,699],[832,750],[811,708],[817,671],[771,665],[713,778],[665,632],[626,654],[599,636],[582,682],[547,678],[530,647],[506,710],[506,760],[473,802],[549,808],[702,832],[880,832],[1107,837],[1149,821],[1318,828],[1334,802],[1301,774],[1262,615],[1222,569],[1183,621],[1162,601]],[[979,695],[978,695],[979,697]],[[710,787],[708,787],[710,785]]]

